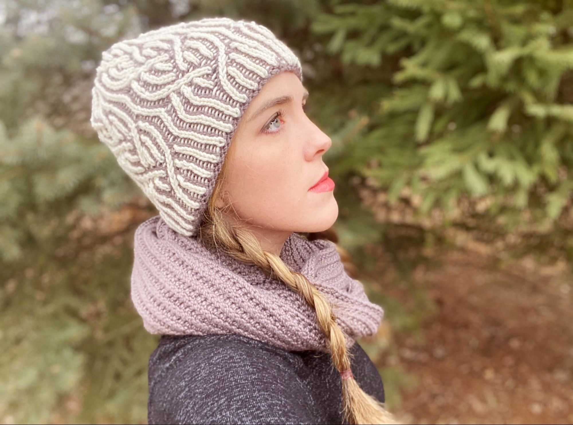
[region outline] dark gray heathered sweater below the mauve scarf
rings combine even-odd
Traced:
[[[362,347],[352,373],[384,401]],[[238,334],[162,336],[149,360],[148,423],[346,424],[342,383],[327,353],[285,351]]]

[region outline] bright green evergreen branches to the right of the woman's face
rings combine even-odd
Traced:
[[[489,196],[487,216],[507,229],[524,209],[528,225],[557,221],[573,189],[571,2],[368,3],[312,24],[349,73],[395,65],[391,92],[375,91],[370,122],[339,151],[344,170],[374,177],[391,202],[409,186],[422,214]]]

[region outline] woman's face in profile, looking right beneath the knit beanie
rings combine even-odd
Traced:
[[[333,190],[308,190],[328,170],[322,157],[332,141],[305,114],[307,95],[294,73],[273,76],[243,114],[225,159],[227,201],[277,255],[292,232],[324,231],[338,216]]]

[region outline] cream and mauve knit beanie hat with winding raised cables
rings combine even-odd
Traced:
[[[167,225],[195,236],[241,116],[283,71],[303,80],[296,55],[255,22],[166,26],[102,53],[91,124]]]

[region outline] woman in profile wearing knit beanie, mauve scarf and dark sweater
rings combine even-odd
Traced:
[[[316,239],[338,215],[299,59],[255,22],[204,18],[103,53],[92,126],[158,208],[132,300],[162,337],[155,423],[392,423],[355,338],[382,309]]]

